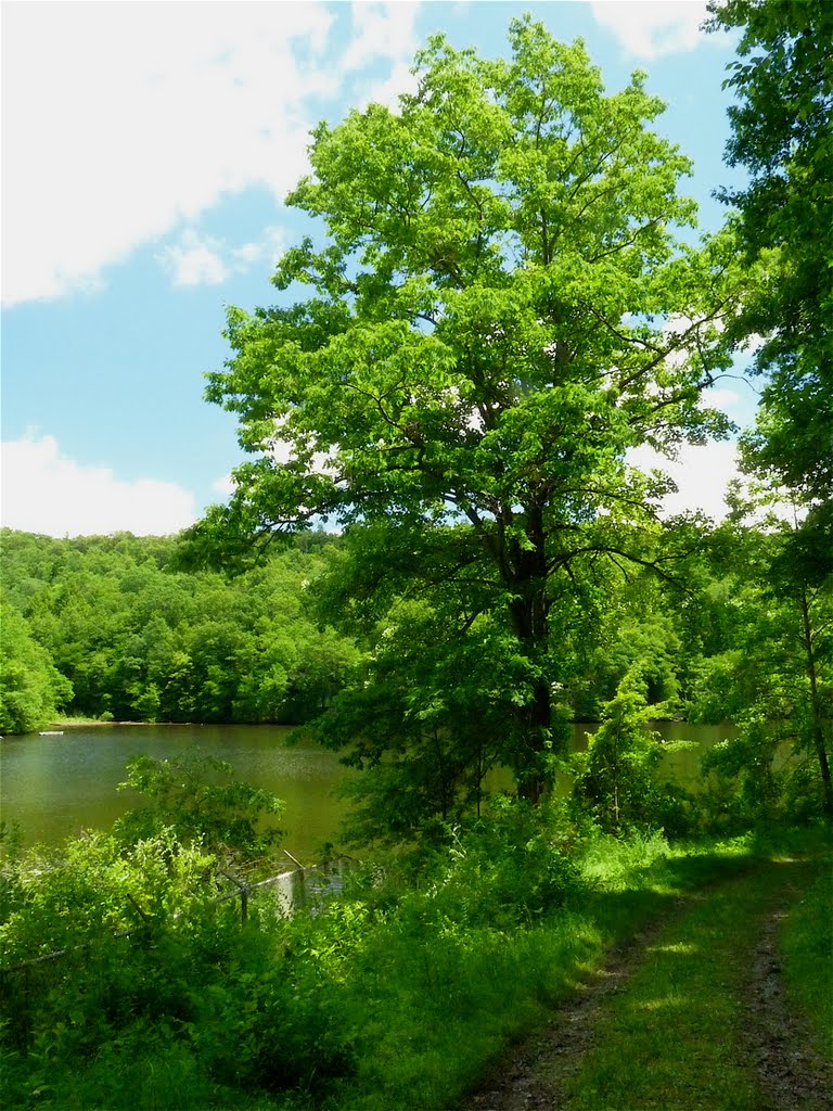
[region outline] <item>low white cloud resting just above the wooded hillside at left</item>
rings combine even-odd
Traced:
[[[61,454],[54,437],[2,444],[2,523],[51,537],[178,532],[197,519],[193,494],[173,482],[117,478]]]

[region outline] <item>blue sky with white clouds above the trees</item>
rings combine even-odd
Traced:
[[[225,308],[281,296],[311,129],[395,107],[434,32],[505,56],[524,11],[581,37],[610,91],[649,74],[715,230],[735,40],[700,30],[700,0],[3,3],[2,523],[161,534],[222,501],[243,457],[202,376],[229,357]],[[753,419],[742,381],[712,394]],[[734,466],[731,442],[684,449],[666,509],[721,516]]]

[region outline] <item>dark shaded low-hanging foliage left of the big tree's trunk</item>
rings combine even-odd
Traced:
[[[516,713],[530,662],[500,619],[461,614],[458,602],[444,584],[394,600],[357,679],[315,724],[317,739],[364,773],[344,788],[357,802],[354,842],[441,833],[481,812],[495,764],[523,759]]]

